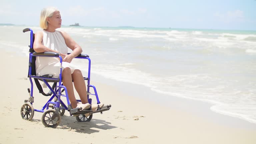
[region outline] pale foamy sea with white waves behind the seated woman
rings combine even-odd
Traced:
[[[0,25],[0,48],[28,56],[30,27]],[[256,31],[70,27],[91,73],[159,94],[209,102],[214,112],[256,123]],[[87,64],[75,61],[82,68]]]

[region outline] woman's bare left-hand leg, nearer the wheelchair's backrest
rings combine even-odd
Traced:
[[[64,68],[62,71],[62,82],[63,82],[63,85],[67,88],[68,97],[69,97],[72,108],[76,108],[79,103],[76,101],[76,98],[75,98],[71,70],[68,67]]]

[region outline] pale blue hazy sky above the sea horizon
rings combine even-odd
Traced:
[[[48,6],[67,26],[256,30],[256,0],[0,0],[0,23],[39,26]]]

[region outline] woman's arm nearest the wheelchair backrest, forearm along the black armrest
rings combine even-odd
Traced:
[[[38,31],[35,33],[35,40],[34,40],[34,44],[33,44],[34,51],[37,53],[46,52],[46,51],[58,53],[58,51],[52,50],[42,44],[43,35],[44,34],[42,31]]]

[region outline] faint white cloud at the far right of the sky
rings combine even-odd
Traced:
[[[244,21],[244,12],[241,10],[227,11],[225,13],[217,12],[214,14],[214,16],[220,21],[226,23]]]

